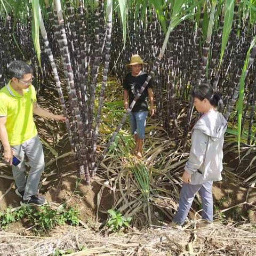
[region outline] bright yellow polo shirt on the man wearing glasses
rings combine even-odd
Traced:
[[[0,116],[7,116],[5,126],[10,146],[21,145],[37,134],[34,102],[36,91],[33,85],[23,90],[23,96],[13,90],[11,81],[0,90]]]

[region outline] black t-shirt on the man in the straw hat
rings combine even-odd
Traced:
[[[148,74],[144,71],[138,76],[132,76],[132,72],[129,72],[124,78],[124,89],[129,91],[129,106],[131,105],[135,95],[140,91],[142,85],[145,83]],[[147,106],[147,97],[148,97],[148,89],[152,87],[151,79],[146,86],[145,90],[142,92],[140,98],[135,103],[132,108],[132,112],[140,112],[140,111],[148,111]]]

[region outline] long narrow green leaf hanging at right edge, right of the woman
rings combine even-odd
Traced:
[[[242,112],[243,112],[243,100],[244,100],[244,84],[245,84],[245,78],[246,78],[246,70],[248,67],[248,61],[250,58],[250,53],[252,48],[254,47],[256,43],[256,36],[254,36],[252,43],[249,47],[249,50],[247,51],[246,59],[244,62],[244,67],[242,71],[242,75],[240,78],[240,88],[239,88],[239,100],[238,100],[238,154],[240,156],[240,142],[241,142],[241,126],[242,126]]]

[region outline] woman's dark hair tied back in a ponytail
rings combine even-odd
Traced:
[[[213,93],[212,86],[201,85],[197,88],[194,88],[191,92],[193,98],[198,98],[199,100],[207,99],[212,106],[217,108],[218,111],[223,109],[223,101],[221,93]]]

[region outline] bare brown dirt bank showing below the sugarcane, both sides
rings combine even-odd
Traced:
[[[2,198],[3,194],[6,193],[6,190],[9,189],[10,186],[12,186],[12,188],[4,198]],[[69,205],[78,207],[81,213],[81,220],[88,222],[96,220],[98,206],[97,198],[100,189],[101,185],[97,183],[97,180],[93,180],[90,186],[86,186],[84,180],[79,183],[75,173],[70,172],[64,177],[56,179],[50,186],[43,185],[41,193],[50,203],[55,202],[61,204],[68,201]],[[239,205],[244,203],[246,198],[248,203],[256,205],[255,188],[242,188],[225,181],[215,182],[213,185],[213,197],[215,213],[217,213],[217,209],[223,210],[233,207],[225,212],[227,219],[241,219],[241,216],[246,218],[246,215],[248,215],[249,221],[251,223],[256,223],[256,211],[253,210],[250,205]],[[20,206],[20,197],[15,194],[13,180],[3,178],[0,180],[0,198],[2,198],[0,201],[0,211],[6,210],[7,207]],[[113,196],[111,195],[110,190],[105,188],[99,205],[98,221],[106,220],[106,211],[111,209],[112,204]],[[252,211],[249,211],[250,209]],[[193,218],[193,214],[191,214],[190,217]],[[13,226],[12,230],[21,227],[22,225],[17,223]]]

